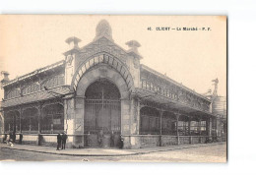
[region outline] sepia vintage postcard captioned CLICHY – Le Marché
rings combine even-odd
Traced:
[[[225,16],[0,16],[0,160],[226,162]]]

